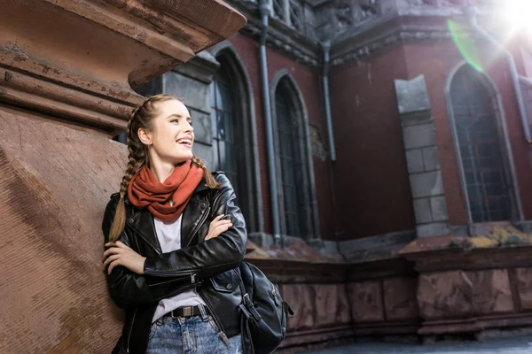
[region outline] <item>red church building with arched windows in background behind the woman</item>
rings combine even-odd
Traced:
[[[138,92],[183,97],[238,186],[284,347],[530,324],[532,47],[504,4],[228,3],[239,34]]]

